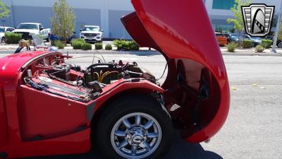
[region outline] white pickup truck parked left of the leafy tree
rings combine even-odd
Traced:
[[[23,39],[32,39],[32,34],[40,35],[47,42],[50,41],[51,29],[44,29],[41,23],[20,23],[13,33],[23,35]]]

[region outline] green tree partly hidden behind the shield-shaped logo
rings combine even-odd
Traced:
[[[249,6],[250,4],[251,0],[235,0],[235,4],[231,8],[231,11],[234,13],[234,18],[227,19],[227,23],[233,23],[234,29],[238,31],[240,41],[242,39],[243,30],[245,30],[241,6]]]

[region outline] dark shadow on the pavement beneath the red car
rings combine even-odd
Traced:
[[[78,155],[57,155],[48,157],[36,158],[21,158],[21,159],[102,159],[98,152],[90,152]],[[175,136],[175,142],[171,146],[171,150],[164,159],[223,159],[220,155],[205,151],[200,143],[186,143],[180,139],[179,135]]]

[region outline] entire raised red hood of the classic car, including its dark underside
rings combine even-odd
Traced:
[[[203,1],[131,1],[135,12],[121,20],[141,47],[152,47],[166,57],[168,77],[162,88],[171,90],[166,103],[185,107],[183,112],[200,109],[196,113],[200,117],[195,113],[179,115],[186,118],[188,127],[196,125],[190,121],[199,118],[200,126],[183,131],[184,138],[192,142],[211,138],[226,120],[230,96],[223,57]],[[197,104],[195,96],[205,84],[209,85],[209,99]],[[194,97],[186,88],[195,90]]]

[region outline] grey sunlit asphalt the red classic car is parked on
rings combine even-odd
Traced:
[[[3,57],[4,54],[0,54]],[[82,68],[92,63],[90,54],[75,54],[71,63]],[[104,55],[136,61],[157,77],[164,70],[161,55]],[[225,56],[231,88],[231,109],[219,134],[210,143],[185,143],[177,133],[165,159],[282,158],[282,57]],[[164,80],[164,79],[163,79]],[[99,143],[97,143],[99,144]],[[25,159],[101,159],[99,153]]]

